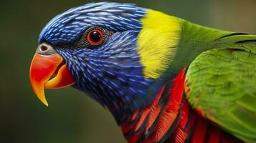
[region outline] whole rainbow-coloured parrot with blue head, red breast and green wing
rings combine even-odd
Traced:
[[[129,143],[256,142],[256,36],[136,4],[55,16],[29,69],[34,93],[74,87],[113,115]]]

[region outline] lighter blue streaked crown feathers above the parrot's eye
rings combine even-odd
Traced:
[[[44,27],[39,42],[65,44],[75,41],[90,26],[104,26],[110,31],[139,31],[146,9],[134,4],[91,3],[72,8],[54,17]]]

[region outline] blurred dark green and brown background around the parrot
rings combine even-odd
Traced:
[[[72,88],[46,91],[49,107],[29,84],[39,32],[56,14],[87,0],[1,0],[0,142],[125,142],[110,113]],[[204,26],[256,34],[255,0],[117,1],[156,9]]]

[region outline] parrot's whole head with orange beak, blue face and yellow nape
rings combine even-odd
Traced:
[[[72,86],[109,109],[147,106],[174,55],[169,42],[179,29],[166,32],[169,21],[179,23],[158,11],[108,2],[55,16],[39,35],[30,67],[35,94],[48,105],[44,89]]]

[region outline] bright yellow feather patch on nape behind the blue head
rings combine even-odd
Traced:
[[[138,54],[146,78],[157,79],[169,68],[176,54],[181,25],[179,19],[149,10],[141,19],[143,28],[138,35]]]

